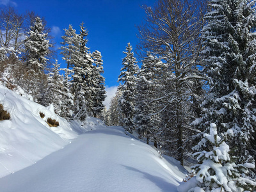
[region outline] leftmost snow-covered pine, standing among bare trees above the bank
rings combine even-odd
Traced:
[[[45,83],[47,77],[44,74],[44,67],[49,52],[49,40],[47,33],[44,33],[44,25],[40,17],[36,17],[33,26],[28,32],[25,41],[25,64],[28,72],[24,75],[26,83],[24,90],[30,93],[36,102],[42,104],[44,97]]]

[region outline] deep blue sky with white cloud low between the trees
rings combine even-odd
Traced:
[[[143,4],[154,5],[156,0],[0,0],[1,5],[10,4],[19,13],[34,11],[45,17],[47,26],[52,29],[56,46],[60,46],[64,28],[72,24],[79,30],[79,24],[89,31],[88,44],[90,51],[98,50],[104,61],[104,77],[108,95],[113,95],[117,78],[122,67],[125,47],[131,42],[133,48],[138,43],[136,25],[145,18]],[[59,57],[61,67],[67,67]],[[107,101],[108,102],[108,101]]]

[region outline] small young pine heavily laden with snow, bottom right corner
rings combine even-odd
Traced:
[[[196,151],[193,156],[198,164],[191,168],[196,173],[197,187],[189,189],[189,192],[236,192],[255,189],[256,182],[241,177],[241,173],[237,172],[239,168],[248,173],[247,167],[254,168],[254,165],[234,163],[234,157],[230,156],[230,147],[218,136],[216,124],[211,124],[210,134],[205,133],[193,150]]]

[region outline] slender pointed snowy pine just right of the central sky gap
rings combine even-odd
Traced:
[[[118,87],[122,91],[119,106],[123,116],[122,124],[124,129],[132,133],[134,130],[133,117],[138,65],[136,64],[137,61],[136,58],[134,58],[130,43],[127,44],[124,54],[126,54],[126,56],[122,61],[123,67],[118,76],[118,82],[123,83]]]

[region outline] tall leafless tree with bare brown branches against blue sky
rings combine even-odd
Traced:
[[[150,52],[158,56],[168,69],[163,71],[164,90],[159,113],[164,116],[165,140],[176,143],[176,157],[183,164],[184,139],[189,127],[189,99],[193,93],[193,81],[203,79],[199,74],[200,30],[204,26],[206,1],[159,0],[156,6],[145,6],[145,24],[138,26],[140,56]],[[172,111],[170,111],[172,109]],[[165,113],[165,114],[164,114]],[[168,115],[166,115],[168,113]],[[168,119],[166,119],[168,118]],[[173,132],[175,134],[171,135]],[[173,142],[174,141],[174,142]],[[172,149],[173,150],[173,149]]]

